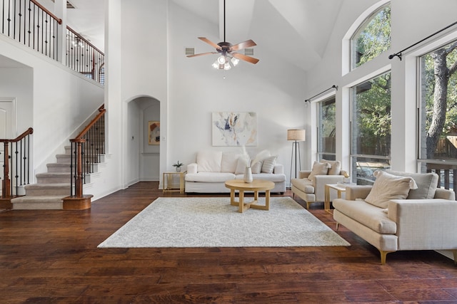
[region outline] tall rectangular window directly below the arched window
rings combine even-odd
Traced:
[[[373,171],[391,159],[391,73],[351,88],[353,182],[372,184]]]

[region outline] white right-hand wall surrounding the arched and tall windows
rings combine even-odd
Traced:
[[[308,72],[307,95],[313,96],[331,85],[338,85],[336,93],[336,146],[337,159],[343,162],[343,168],[349,168],[349,88],[368,78],[391,68],[392,75],[392,150],[393,169],[416,172],[416,75],[413,68],[415,58],[403,56],[388,59],[392,53],[416,43],[426,36],[455,22],[457,2],[451,0],[391,1],[391,50],[378,56],[361,67],[348,72],[348,38],[373,8],[386,3],[383,1],[349,0],[344,1],[335,28],[328,43],[323,60]],[[456,28],[453,28],[456,32]],[[428,41],[429,43],[430,41]],[[425,45],[427,43],[423,43]],[[406,68],[408,65],[408,68]],[[411,73],[412,68],[412,73]],[[345,71],[346,70],[346,71]],[[316,99],[318,100],[318,99]],[[316,121],[316,105],[308,107],[306,121]],[[316,158],[316,132],[314,125],[307,125],[311,130],[313,159]]]

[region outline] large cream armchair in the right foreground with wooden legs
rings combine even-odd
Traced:
[[[373,187],[346,187],[346,198],[333,200],[337,228],[342,224],[378,248],[382,264],[387,253],[401,250],[451,250],[457,263],[455,193],[437,189],[434,173],[388,173],[393,178],[378,174]],[[399,191],[408,177],[417,188]]]

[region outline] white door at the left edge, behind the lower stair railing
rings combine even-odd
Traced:
[[[13,139],[14,136],[14,98],[0,98],[0,139]],[[11,144],[9,145],[11,152]],[[0,181],[3,181],[4,143],[0,142]],[[0,183],[1,193],[1,183]]]

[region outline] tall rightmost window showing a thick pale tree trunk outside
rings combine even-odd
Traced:
[[[457,41],[420,58],[421,171],[440,176],[440,185],[456,190],[457,173]]]

